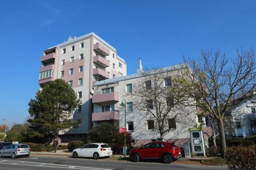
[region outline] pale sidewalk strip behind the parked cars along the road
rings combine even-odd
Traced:
[[[46,152],[34,152],[32,151],[31,154],[35,155],[63,155],[63,156],[72,156],[72,152],[68,150],[57,150],[56,153],[54,151],[46,151]],[[113,155],[115,157],[123,158],[124,155]],[[129,157],[129,155],[126,155]],[[200,160],[210,160],[210,159],[217,159],[216,157],[204,157],[204,156],[193,156],[192,158],[180,158],[180,160],[191,160],[191,161],[200,161]]]

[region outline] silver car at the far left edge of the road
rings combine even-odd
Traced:
[[[0,150],[0,158],[11,157],[16,158],[17,156],[30,156],[31,148],[26,144],[11,144]]]

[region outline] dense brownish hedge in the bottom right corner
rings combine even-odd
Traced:
[[[255,158],[255,146],[233,146],[226,151],[226,164],[229,169],[255,170]]]

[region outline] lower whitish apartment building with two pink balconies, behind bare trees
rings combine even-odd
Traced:
[[[164,68],[164,70],[170,72],[170,75],[176,74],[182,69],[185,69],[185,65]],[[133,91],[135,83],[145,80],[143,79],[145,74],[141,73],[142,66],[140,61],[140,69],[138,69],[137,74],[96,82],[92,97],[92,103],[94,104],[92,113],[93,126],[97,126],[100,122],[119,122],[119,127],[124,128],[125,110],[120,104],[123,99],[126,100],[126,127],[128,133],[131,133],[134,139],[134,145],[155,141],[160,137],[159,133],[153,130],[154,126],[156,126],[156,120],[152,117],[150,118],[147,115],[147,111],[138,111],[137,108],[133,107],[136,99],[131,99],[127,95]],[[160,81],[165,86],[164,79]],[[176,112],[184,113],[183,121],[174,121],[174,124],[171,124],[172,129],[164,134],[164,141],[171,140],[171,142],[181,145],[190,141],[189,128],[194,128],[199,122],[196,107],[184,107]]]

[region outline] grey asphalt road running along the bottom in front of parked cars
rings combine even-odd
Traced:
[[[83,169],[83,170],[151,170],[151,169],[227,169],[225,167],[163,164],[160,162],[127,162],[112,160],[93,160],[87,158],[67,158],[56,156],[36,156],[29,158],[0,158],[0,169]]]

